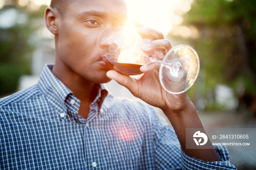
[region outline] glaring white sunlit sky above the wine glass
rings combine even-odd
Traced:
[[[128,17],[167,34],[173,24],[181,24],[193,0],[126,0]],[[180,15],[177,15],[179,13]]]

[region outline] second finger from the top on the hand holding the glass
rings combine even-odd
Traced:
[[[172,45],[167,39],[157,39],[153,40],[150,43],[144,45],[142,47],[142,51],[145,53],[149,53],[154,50],[163,50],[167,53],[172,48]]]

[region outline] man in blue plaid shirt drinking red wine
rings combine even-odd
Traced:
[[[154,66],[135,80],[102,61],[98,35],[126,20],[123,0],[52,0],[45,23],[56,61],[37,85],[0,100],[1,169],[235,169],[223,148],[186,149],[186,128],[203,125],[187,93],[163,90]],[[153,39],[145,52],[171,48],[161,32],[138,32]],[[108,94],[111,79],[161,108],[174,130],[149,105]]]

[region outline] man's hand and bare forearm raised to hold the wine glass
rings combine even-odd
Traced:
[[[142,37],[153,39],[150,45],[144,46],[142,50],[146,53],[157,50],[157,59],[161,59],[172,47],[169,40],[163,39],[163,34],[160,32],[150,28],[139,28],[138,32]],[[187,155],[208,162],[219,161],[218,154],[213,146],[212,149],[207,149],[207,151],[186,149],[186,128],[203,128],[196,108],[189,99],[187,92],[181,94],[166,92],[159,81],[159,64],[150,63],[140,67],[140,71],[144,74],[139,79],[120,74],[114,70],[108,71],[107,76],[125,86],[135,97],[162,109],[172,123],[181,148]],[[183,74],[183,80],[185,76],[186,73]],[[178,88],[180,83],[182,83],[182,78],[181,82],[172,81],[172,86]],[[210,139],[208,138],[208,140]]]

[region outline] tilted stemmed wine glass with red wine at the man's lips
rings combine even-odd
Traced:
[[[144,53],[142,47],[152,39],[142,38],[136,29],[128,26],[106,28],[97,40],[102,60],[125,75],[141,74],[140,67],[148,63],[159,64],[159,79],[163,88],[172,94],[187,91],[199,74],[199,57],[188,45],[170,49],[164,58],[155,58],[156,51]]]

